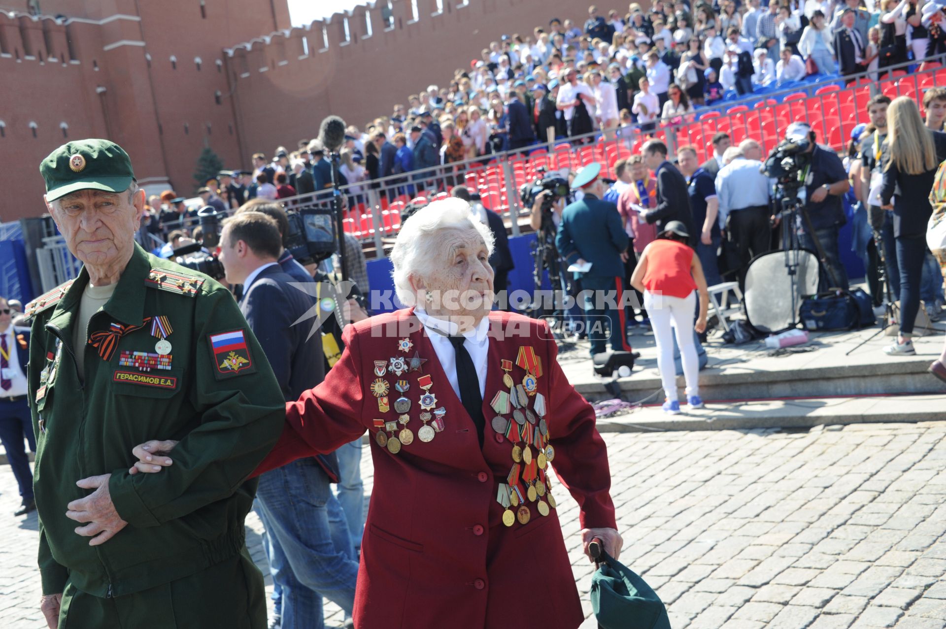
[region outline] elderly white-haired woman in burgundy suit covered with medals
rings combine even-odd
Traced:
[[[342,358],[287,404],[282,438],[256,470],[371,434],[359,629],[578,627],[555,509],[566,490],[586,552],[593,537],[621,551],[594,411],[562,373],[546,323],[491,311],[492,248],[465,201],[409,218],[391,258],[411,307],[346,328]],[[137,465],[154,463],[166,458]]]

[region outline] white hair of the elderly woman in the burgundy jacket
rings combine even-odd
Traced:
[[[486,251],[493,253],[493,233],[473,216],[466,201],[456,198],[433,201],[417,210],[401,224],[391,252],[394,292],[404,306],[416,305],[417,295],[411,287],[411,278],[429,274],[440,262],[436,255],[439,253],[437,240],[441,232],[448,229],[475,230],[486,244]]]

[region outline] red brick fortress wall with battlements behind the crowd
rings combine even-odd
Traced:
[[[255,151],[315,137],[328,114],[362,126],[429,83],[446,85],[502,33],[587,10],[571,0],[460,1],[432,15],[435,1],[418,0],[414,22],[410,0],[393,0],[390,30],[380,9],[359,7],[348,44],[335,15],[324,50],[322,22],[289,30],[287,0],[205,0],[202,16],[200,0],[43,0],[44,13],[81,18],[64,24],[0,12],[0,221],[44,213],[39,163],[68,140],[111,138],[146,188],[170,182],[190,194],[204,146],[227,168],[249,167]]]

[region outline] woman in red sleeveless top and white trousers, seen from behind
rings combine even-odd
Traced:
[[[674,341],[670,336],[671,320],[676,328],[676,343],[680,347],[683,361],[683,376],[687,381],[687,402],[690,409],[702,409],[699,393],[699,361],[693,344],[691,328],[703,332],[707,328],[707,308],[710,293],[703,275],[700,259],[687,245],[690,234],[679,220],[667,223],[657,240],[647,245],[640,254],[638,267],[631,277],[631,286],[644,293],[644,307],[650,315],[657,341],[657,370],[663,382],[667,399],[663,410],[671,415],[680,412],[676,393],[676,369],[674,367]],[[700,312],[693,324],[696,297],[700,295]]]

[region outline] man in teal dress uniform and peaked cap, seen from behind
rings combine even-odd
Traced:
[[[590,269],[575,275],[582,282],[592,357],[607,349],[605,318],[610,327],[612,349],[631,351],[622,305],[624,260],[630,238],[622,227],[618,206],[601,201],[604,183],[598,178],[600,173],[601,165],[593,162],[578,171],[571,189],[581,189],[585,196],[566,206],[555,236],[558,253],[569,265],[591,264]]]

